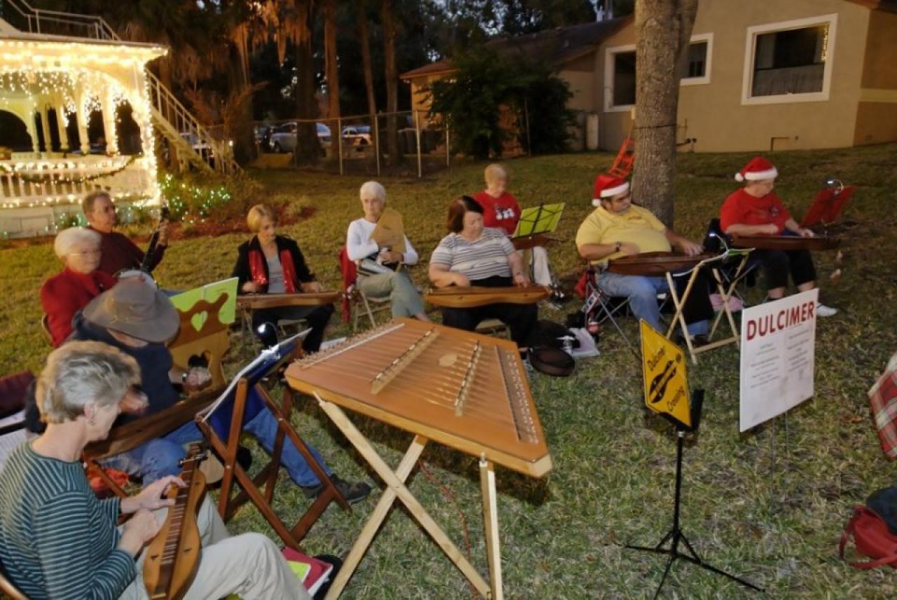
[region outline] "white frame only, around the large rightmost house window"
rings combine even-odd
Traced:
[[[752,96],[753,88],[753,61],[757,48],[757,36],[763,33],[775,31],[799,30],[814,25],[829,26],[829,45],[826,48],[825,66],[823,67],[823,90],[797,94],[778,94],[775,96]],[[742,76],[741,103],[750,104],[786,104],[792,102],[822,102],[829,100],[829,92],[832,87],[832,66],[835,57],[835,39],[838,38],[838,13],[821,14],[806,19],[763,23],[747,28],[745,39],[745,70]]]

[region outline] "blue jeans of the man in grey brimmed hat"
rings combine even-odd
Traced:
[[[265,448],[267,452],[271,452],[274,448],[274,436],[277,433],[277,421],[268,410],[260,411],[252,421],[243,426],[244,431],[248,431],[255,437],[258,443]],[[203,434],[196,427],[195,422],[187,422],[178,429],[162,436],[161,438],[151,439],[142,446],[138,446],[133,450],[129,450],[115,457],[109,457],[103,461],[103,465],[110,466],[127,474],[142,477],[144,485],[152,483],[157,479],[161,479],[165,475],[180,474],[181,468],[179,461],[187,456],[184,446],[191,442],[203,439]],[[324,458],[318,453],[318,450],[309,446],[311,455],[318,461],[318,465],[324,469],[325,473],[331,474],[330,469],[324,464]],[[286,468],[290,478],[302,487],[318,485],[318,475],[311,470],[309,463],[305,457],[302,457],[299,450],[293,445],[292,440],[286,438],[283,440],[283,452],[281,453],[281,464]]]

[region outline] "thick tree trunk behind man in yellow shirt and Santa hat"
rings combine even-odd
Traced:
[[[698,0],[636,0],[632,196],[673,226],[676,113]]]

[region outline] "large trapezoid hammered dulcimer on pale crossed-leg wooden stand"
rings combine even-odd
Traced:
[[[516,344],[397,318],[294,362],[286,378],[293,389],[318,398],[327,416],[387,484],[327,598],[342,593],[396,499],[483,597],[502,598],[495,465],[532,477],[552,468]],[[395,470],[343,409],[414,433]],[[405,487],[430,440],[479,459],[488,583]]]

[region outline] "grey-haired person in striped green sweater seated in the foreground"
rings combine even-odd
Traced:
[[[50,353],[35,393],[47,430],[25,442],[0,471],[0,561],[30,598],[146,598],[144,545],[158,534],[163,477],[135,496],[98,500],[81,456],[105,439],[126,398],[142,396],[137,362],[100,342],[70,342]],[[118,527],[118,518],[130,518]],[[186,598],[309,598],[265,535],[228,537],[207,499],[196,518],[202,559]]]

